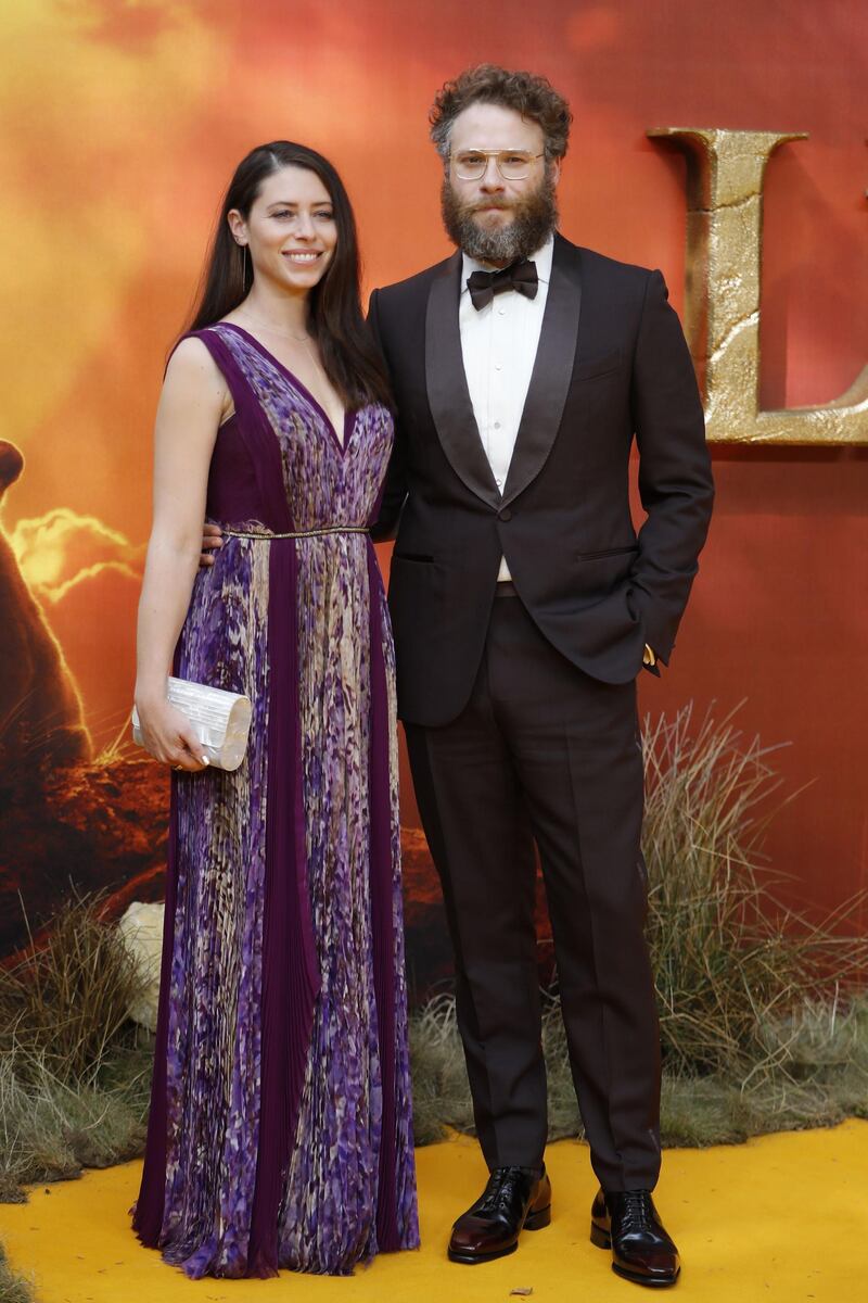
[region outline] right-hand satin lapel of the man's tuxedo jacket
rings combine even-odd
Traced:
[[[504,486],[502,506],[527,489],[552,451],[570,391],[580,308],[579,253],[574,245],[556,236],[540,343]]]

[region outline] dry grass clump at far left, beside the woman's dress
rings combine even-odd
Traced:
[[[99,896],[0,968],[0,1199],[142,1152],[151,1040],[126,1016],[141,979]]]

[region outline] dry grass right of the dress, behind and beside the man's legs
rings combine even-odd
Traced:
[[[670,1145],[868,1117],[868,938],[842,933],[851,902],[820,924],[785,908],[761,864],[777,748],[727,715],[694,727],[645,721],[648,941],[661,1019],[661,1130]],[[454,1002],[411,1020],[420,1143],[472,1130]],[[557,997],[543,1048],[552,1139],[580,1135]]]

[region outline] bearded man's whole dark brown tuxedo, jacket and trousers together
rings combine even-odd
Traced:
[[[371,297],[396,400],[372,533],[397,530],[398,713],[455,949],[478,1132],[489,1166],[541,1165],[536,846],[595,1170],[609,1191],[652,1188],[635,680],[645,644],[669,661],[708,529],[701,403],[661,274],[556,236],[501,490],[463,369],[461,267],[455,254]]]

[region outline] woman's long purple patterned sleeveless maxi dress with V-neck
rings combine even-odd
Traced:
[[[234,400],[208,480],[234,533],[174,668],[249,693],[254,722],[236,773],[172,775],[133,1225],[191,1277],[349,1274],[419,1243],[393,646],[363,530],[392,420],[347,413],[341,444],[241,327],[197,337]]]

